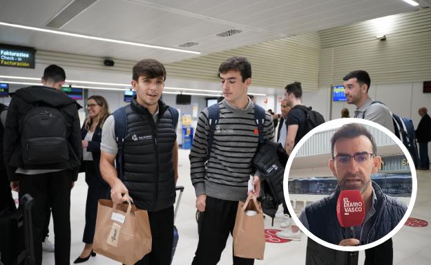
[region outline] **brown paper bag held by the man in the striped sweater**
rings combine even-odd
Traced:
[[[246,211],[256,211],[249,216]],[[263,259],[265,252],[265,224],[262,208],[255,195],[245,202],[238,202],[235,227],[233,228],[233,255],[250,259]]]

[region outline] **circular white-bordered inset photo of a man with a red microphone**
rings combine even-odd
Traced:
[[[283,189],[291,218],[308,237],[334,250],[363,251],[390,239],[408,219],[416,171],[391,131],[343,118],[298,142]]]

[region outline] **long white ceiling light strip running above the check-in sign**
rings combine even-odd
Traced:
[[[159,49],[159,50],[169,50],[172,52],[185,52],[185,53],[189,53],[189,54],[200,54],[200,52],[195,52],[195,51],[190,51],[190,50],[181,50],[181,49],[176,49],[176,48],[172,48],[172,47],[163,47],[163,46],[158,46],[158,45],[136,43],[136,42],[132,42],[132,41],[120,41],[117,39],[100,38],[97,36],[63,32],[63,31],[59,31],[59,30],[48,30],[45,28],[35,28],[35,27],[30,27],[28,25],[18,25],[18,24],[4,23],[4,22],[0,22],[0,25],[5,25],[7,27],[12,27],[12,28],[22,28],[24,30],[33,30],[33,31],[37,31],[37,32],[46,32],[46,33],[59,34],[59,35],[64,35],[64,36],[74,36],[74,37],[82,38],[82,39],[92,39],[95,41],[104,41],[104,42],[109,42],[109,43],[119,43],[119,44],[133,45],[133,46],[139,46],[139,47],[148,47],[148,48]]]

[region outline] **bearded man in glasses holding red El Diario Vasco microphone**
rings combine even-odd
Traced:
[[[320,239],[341,246],[369,244],[390,233],[407,206],[384,194],[371,180],[372,173],[379,170],[381,157],[376,156],[376,142],[370,131],[358,123],[343,125],[332,136],[331,153],[329,169],[337,178],[336,190],[307,205],[300,221]],[[355,198],[354,191],[359,191],[359,198]],[[347,195],[339,198],[341,193]],[[338,210],[343,211],[342,216],[340,211],[337,214],[337,207],[341,207]],[[343,224],[355,226],[345,229]],[[307,256],[308,252],[307,249]]]

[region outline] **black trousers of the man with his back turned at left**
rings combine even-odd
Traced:
[[[72,171],[38,175],[19,174],[19,197],[29,193],[32,207],[33,242],[36,264],[42,264],[42,240],[45,236],[46,209],[50,205],[55,234],[55,264],[70,262],[70,184]]]

